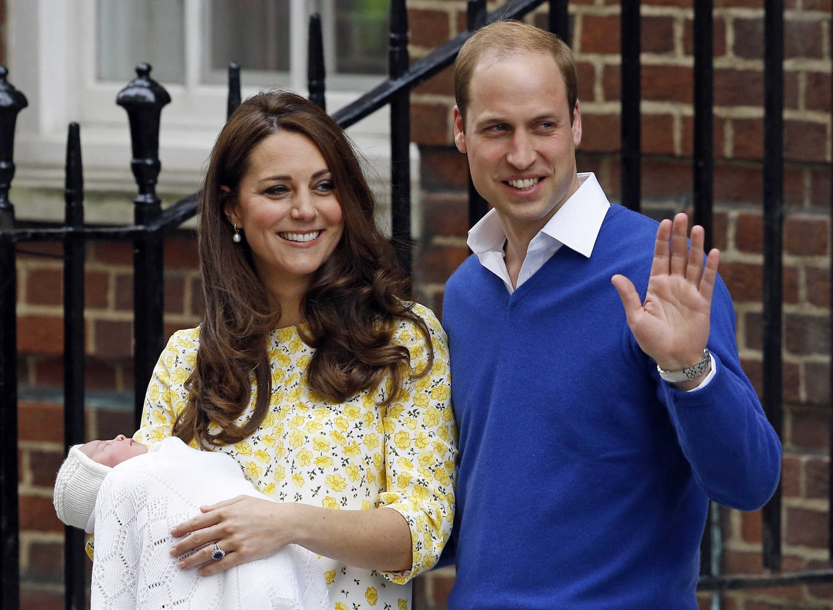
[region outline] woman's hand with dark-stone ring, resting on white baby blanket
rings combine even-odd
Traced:
[[[292,502],[237,496],[202,507],[202,515],[171,530],[174,537],[190,534],[173,545],[171,554],[179,557],[206,545],[179,562],[182,569],[202,566],[199,569],[201,576],[211,576],[239,563],[269,557],[292,542],[297,506]],[[218,561],[211,557],[214,542],[226,552]]]

